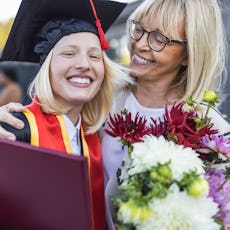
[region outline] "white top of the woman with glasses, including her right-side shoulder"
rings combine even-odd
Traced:
[[[153,99],[154,100],[154,99]],[[147,125],[151,122],[151,117],[154,119],[162,118],[165,112],[165,108],[147,108],[142,106],[133,95],[133,93],[121,93],[116,98],[116,103],[112,113],[119,113],[121,110],[126,108],[133,118],[136,113],[139,112],[141,116],[147,119]],[[203,105],[203,109],[206,110],[207,106]],[[226,134],[230,132],[230,124],[223,118],[223,116],[216,109],[209,110],[209,117],[211,122],[214,124],[213,128],[219,130],[219,134]],[[118,141],[118,138],[111,137],[104,133],[102,137],[102,159],[104,166],[104,180],[105,185],[109,178],[115,175],[117,169],[120,168],[124,155],[127,152],[127,148],[122,150],[122,144]]]

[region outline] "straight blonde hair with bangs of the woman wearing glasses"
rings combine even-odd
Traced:
[[[181,69],[176,88],[181,99],[193,96],[197,101],[204,90],[220,87],[225,65],[223,21],[216,0],[145,0],[130,16],[148,23],[158,16],[159,29],[167,36],[179,38],[178,22],[183,18],[187,40],[187,68]]]

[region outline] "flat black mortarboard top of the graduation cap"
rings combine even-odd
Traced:
[[[93,3],[104,32],[126,6],[108,0],[93,0]],[[1,60],[38,63],[40,57],[34,52],[36,34],[50,20],[70,18],[85,20],[96,28],[89,0],[22,0]]]

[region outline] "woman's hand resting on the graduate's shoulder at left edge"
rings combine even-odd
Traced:
[[[21,120],[15,118],[11,113],[22,112],[23,110],[25,110],[25,107],[19,103],[10,102],[6,105],[1,106],[0,124],[1,122],[5,122],[16,129],[22,129],[24,127],[24,123]],[[15,135],[3,129],[1,125],[0,125],[0,138],[16,140]]]

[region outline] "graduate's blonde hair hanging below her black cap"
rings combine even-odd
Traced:
[[[50,62],[53,50],[50,51],[42,64],[39,72],[29,87],[29,95],[37,95],[39,104],[43,112],[52,114],[66,113],[66,108],[58,103],[50,83]],[[87,134],[94,133],[102,126],[106,120],[115,90],[123,88],[126,84],[132,84],[132,79],[128,76],[125,67],[111,61],[103,52],[105,66],[105,76],[101,88],[96,96],[88,103],[84,104],[81,111],[83,127]]]

